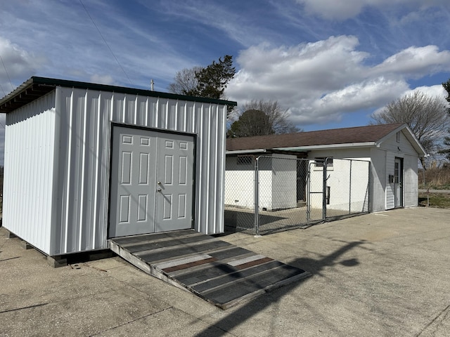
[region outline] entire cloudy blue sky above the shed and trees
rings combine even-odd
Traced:
[[[34,75],[167,91],[177,71],[229,54],[227,98],[278,100],[310,131],[366,125],[416,88],[444,98],[450,77],[448,0],[0,4],[2,97]]]

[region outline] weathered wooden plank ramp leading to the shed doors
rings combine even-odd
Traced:
[[[110,240],[110,248],[144,272],[222,309],[311,276],[193,230],[119,237]]]

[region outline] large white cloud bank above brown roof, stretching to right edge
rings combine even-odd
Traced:
[[[409,91],[408,79],[450,70],[450,52],[436,46],[410,47],[371,66],[365,64],[371,55],[358,44],[356,37],[340,36],[291,47],[252,46],[238,56],[240,71],[226,95],[238,104],[278,100],[294,123],[325,124],[389,103]]]

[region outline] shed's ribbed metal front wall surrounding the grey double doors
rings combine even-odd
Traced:
[[[195,133],[195,230],[223,232],[226,105],[57,87],[60,217],[50,254],[108,247],[110,122]]]

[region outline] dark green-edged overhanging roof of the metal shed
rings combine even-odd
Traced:
[[[0,100],[0,112],[12,112],[37,98],[53,91],[56,86],[66,88],[82,88],[96,91],[107,91],[115,93],[127,93],[130,95],[142,95],[150,97],[167,98],[171,100],[188,100],[191,102],[212,103],[220,105],[236,106],[238,103],[231,100],[214,100],[212,98],[193,97],[186,95],[177,95],[175,93],[162,93],[160,91],[151,91],[138,88],[127,88],[124,86],[108,86],[105,84],[94,84],[80,81],[69,81],[66,79],[50,79],[47,77],[31,77],[15,90]]]

